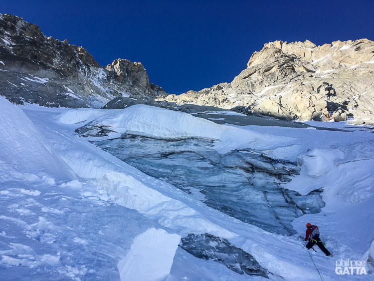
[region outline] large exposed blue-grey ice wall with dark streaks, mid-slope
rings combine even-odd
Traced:
[[[91,142],[147,175],[189,194],[203,194],[201,201],[209,207],[277,234],[294,234],[294,218],[319,213],[325,205],[318,191],[301,196],[280,188],[298,168],[266,157],[262,151],[234,150],[221,155],[209,150],[212,140],[133,134]]]

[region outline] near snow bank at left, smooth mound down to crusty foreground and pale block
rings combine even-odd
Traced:
[[[123,263],[117,268],[118,263],[139,254],[132,252],[134,243],[147,248],[149,241],[135,241],[150,232],[154,241],[171,247],[155,249],[152,256],[149,251],[152,258],[138,260],[133,270],[141,272],[153,260],[169,261],[148,280],[165,279],[180,237],[137,211],[96,197],[97,187],[78,179],[22,110],[2,97],[0,105],[5,132],[0,279],[119,280]]]

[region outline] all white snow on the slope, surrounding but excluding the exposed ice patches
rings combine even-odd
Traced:
[[[0,158],[2,280],[263,279],[239,275],[178,248],[189,233],[227,239],[252,255],[272,280],[319,278],[299,235],[276,235],[243,223],[207,207],[199,195],[141,173],[75,133],[90,122],[110,128],[109,137],[124,132],[203,137],[218,140],[212,149],[220,153],[247,147],[298,160],[301,174],[285,187],[303,194],[324,189],[322,212],[293,223],[301,236],[307,222],[320,226],[334,254],[312,253],[323,279],[336,280],[337,259],[369,257],[374,217],[370,132],[239,128],[143,105],[50,109],[16,107],[1,98],[0,106],[7,120],[1,123],[1,132],[7,132]]]

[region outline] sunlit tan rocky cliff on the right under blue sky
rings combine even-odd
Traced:
[[[234,108],[285,120],[374,123],[374,42],[316,46],[275,41],[254,52],[230,83],[169,95],[177,104]]]

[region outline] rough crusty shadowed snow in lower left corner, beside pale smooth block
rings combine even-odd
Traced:
[[[134,210],[66,187],[33,188],[1,186],[1,280],[119,280],[116,265],[132,239],[156,227]]]

